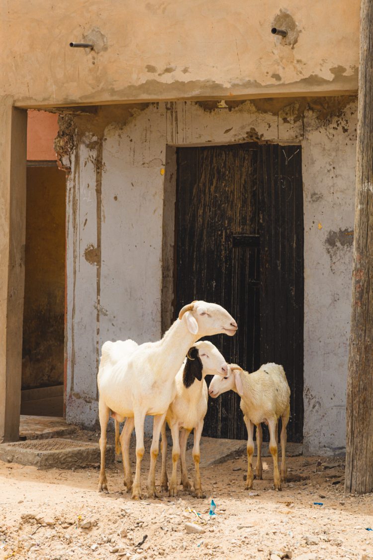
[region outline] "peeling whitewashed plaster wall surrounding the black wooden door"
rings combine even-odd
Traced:
[[[304,181],[304,445],[310,453],[342,449],[356,109],[352,97],[302,98],[231,102],[228,109],[216,102],[118,106],[75,117],[68,181],[69,421],[96,422],[105,340],[161,335],[166,147],[295,142],[302,146]]]

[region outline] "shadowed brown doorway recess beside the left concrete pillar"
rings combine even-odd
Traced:
[[[55,161],[27,166],[21,414],[30,416],[64,413],[65,181]]]

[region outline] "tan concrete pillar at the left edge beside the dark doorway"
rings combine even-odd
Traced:
[[[0,97],[0,442],[20,429],[27,111]]]

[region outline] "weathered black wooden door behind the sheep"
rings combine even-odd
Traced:
[[[256,370],[260,363],[266,361],[282,363],[292,393],[296,392],[296,397],[299,397],[299,383],[303,380],[303,331],[300,333],[298,330],[298,334],[301,335],[301,367],[299,363],[295,366],[293,360],[292,370],[288,372],[288,362],[285,358],[294,356],[294,337],[289,339],[288,346],[291,345],[291,349],[285,351],[287,342],[285,331],[282,329],[279,352],[276,344],[279,336],[276,325],[272,331],[270,329],[271,316],[280,322],[280,326],[285,321],[281,311],[276,311],[277,302],[280,304],[281,300],[281,305],[282,302],[287,302],[287,292],[285,293],[283,288],[287,286],[289,279],[283,278],[284,274],[294,276],[294,273],[301,269],[303,282],[303,260],[298,268],[291,269],[292,261],[289,258],[286,260],[286,266],[281,264],[280,269],[277,267],[278,244],[281,248],[285,244],[287,257],[291,253],[288,248],[291,240],[287,239],[289,236],[284,234],[285,230],[280,223],[281,220],[289,219],[291,223],[295,223],[295,213],[290,211],[295,193],[290,192],[289,181],[293,185],[296,183],[297,188],[300,185],[301,199],[301,175],[298,179],[287,177],[287,171],[284,171],[282,166],[279,167],[277,163],[273,165],[273,158],[280,157],[279,150],[282,149],[287,154],[288,164],[294,160],[292,165],[295,166],[296,162],[300,161],[299,146],[275,147],[245,143],[178,148],[176,310],[192,300],[213,301],[223,305],[237,320],[238,333],[232,338],[218,335],[210,337],[210,340],[223,352],[226,360],[239,363],[248,371]],[[268,164],[269,161],[271,165]],[[299,173],[300,169],[301,167],[298,169]],[[273,193],[276,181],[278,189],[281,189],[281,192],[276,194],[280,197],[282,211],[281,216],[276,217],[276,227],[274,224],[272,227],[272,222],[268,221],[273,220],[273,204],[278,202]],[[286,185],[285,188],[282,184]],[[286,191],[286,194],[282,191]],[[284,196],[288,208],[286,211],[283,208]],[[295,206],[293,205],[294,211]],[[301,212],[301,220],[296,224],[301,226],[303,235],[303,210],[301,207],[298,210]],[[281,234],[276,241],[279,231],[277,226],[280,227]],[[286,232],[290,235],[296,227],[297,225],[294,225],[291,229],[287,224]],[[303,237],[300,237],[299,242],[303,251]],[[292,245],[294,246],[294,242]],[[273,267],[277,267],[276,273]],[[277,285],[279,277],[280,288]],[[292,295],[298,297],[298,291],[295,292],[295,279],[291,278],[289,285]],[[297,290],[299,287],[297,285]],[[281,291],[280,300],[278,290]],[[268,298],[269,293],[271,298]],[[301,318],[298,321],[299,325],[292,321],[294,333],[295,325],[300,329],[301,323],[303,327],[303,299],[298,303],[297,309],[301,311]],[[286,315],[286,321],[290,316],[291,310]],[[263,337],[272,338],[265,340]],[[281,362],[280,358],[283,357]],[[291,380],[295,381],[294,388]],[[299,398],[295,398],[294,403],[298,401]],[[301,402],[303,403],[303,400]],[[300,423],[297,430],[301,437],[302,410],[298,410],[296,418],[297,426]],[[238,439],[246,437],[238,395],[230,392],[218,399],[210,399],[204,435]],[[295,433],[291,433],[291,427],[289,439],[298,439]]]

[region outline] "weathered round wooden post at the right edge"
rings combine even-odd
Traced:
[[[373,2],[361,1],[346,492],[373,491]]]

